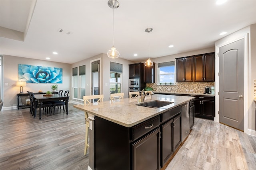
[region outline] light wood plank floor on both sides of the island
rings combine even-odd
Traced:
[[[69,114],[36,119],[29,109],[0,112],[0,170],[86,170],[84,112],[69,103]],[[195,119],[184,145],[166,170],[256,170],[256,137]],[[122,167],[120,167],[122,170]]]

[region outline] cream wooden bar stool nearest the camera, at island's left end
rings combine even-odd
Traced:
[[[103,102],[104,95],[92,95],[92,96],[83,96],[84,99],[84,106],[86,107],[86,103],[91,103],[92,99],[98,99],[97,102]],[[89,117],[88,113],[84,112],[85,115],[85,143],[84,143],[84,155],[86,155],[87,149],[90,147],[88,140],[89,140]]]

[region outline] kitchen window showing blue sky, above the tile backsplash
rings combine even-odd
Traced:
[[[158,84],[174,84],[174,61],[158,63]]]

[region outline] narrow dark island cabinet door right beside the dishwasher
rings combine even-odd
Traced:
[[[174,151],[178,149],[182,140],[182,131],[181,131],[181,114],[174,117],[173,119],[173,144]]]

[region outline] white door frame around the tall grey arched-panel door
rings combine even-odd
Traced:
[[[233,43],[235,41],[238,41],[240,39],[244,39],[244,133],[250,134],[250,135],[255,135],[252,134],[252,132],[248,131],[248,89],[249,89],[249,82],[248,82],[248,38],[249,37],[249,33],[244,33],[244,34],[240,34],[238,35],[238,37],[236,38],[232,38],[224,43],[221,43],[219,45],[215,46],[215,117],[214,117],[214,121],[219,122],[220,117],[219,117],[219,94],[218,92],[220,91],[220,87],[219,87],[219,71],[220,71],[220,58],[219,58],[219,49],[220,47],[223,47],[224,45],[228,45],[230,43]],[[255,132],[254,132],[255,133]]]

